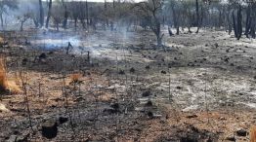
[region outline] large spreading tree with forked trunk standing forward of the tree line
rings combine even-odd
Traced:
[[[159,13],[162,10],[162,0],[148,0],[148,2],[140,2],[135,6],[138,9],[138,15],[146,19],[149,23],[149,28],[156,36],[157,46],[162,46],[163,35],[161,33],[161,23]]]

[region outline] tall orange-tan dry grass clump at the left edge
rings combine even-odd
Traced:
[[[3,90],[9,90],[12,93],[21,92],[21,89],[17,86],[15,81],[8,80],[6,63],[3,56],[0,56],[0,88]]]

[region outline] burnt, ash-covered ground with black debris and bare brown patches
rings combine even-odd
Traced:
[[[255,40],[209,29],[165,31],[163,48],[149,31],[3,36],[8,78],[21,87],[26,77],[28,101],[1,94],[0,141],[242,142],[256,124]],[[49,120],[52,139],[42,136]]]

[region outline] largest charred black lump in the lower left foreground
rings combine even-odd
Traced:
[[[42,135],[48,139],[55,138],[58,133],[57,122],[55,120],[48,120],[42,124]]]

